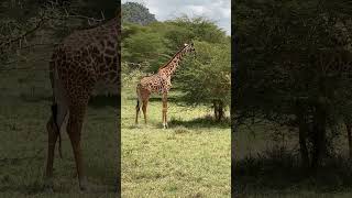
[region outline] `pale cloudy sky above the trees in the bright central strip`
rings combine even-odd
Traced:
[[[206,16],[231,34],[231,0],[122,0],[144,4],[156,20],[165,21],[182,14]]]

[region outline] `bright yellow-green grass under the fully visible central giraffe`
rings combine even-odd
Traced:
[[[133,85],[133,84],[132,84]],[[230,197],[229,124],[216,124],[206,108],[168,103],[169,129],[162,129],[162,102],[153,97],[145,125],[134,124],[134,87],[122,90],[122,197]]]

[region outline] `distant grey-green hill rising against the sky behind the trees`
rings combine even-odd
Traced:
[[[129,22],[146,25],[156,21],[155,15],[141,3],[125,2],[122,4],[121,9],[122,23]]]

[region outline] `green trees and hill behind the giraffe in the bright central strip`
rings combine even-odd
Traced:
[[[213,100],[221,100],[224,107],[230,105],[231,41],[223,30],[204,16],[158,22],[142,4],[128,2],[122,8],[123,73],[156,73],[184,43],[194,42],[197,55],[188,55],[173,78],[174,88],[184,94],[180,101],[211,107]],[[141,23],[140,18],[145,21]]]

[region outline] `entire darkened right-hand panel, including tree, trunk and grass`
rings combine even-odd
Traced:
[[[351,14],[344,0],[237,1],[237,194],[350,194]]]

